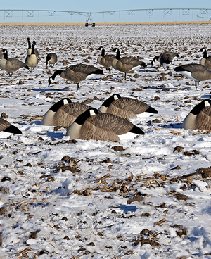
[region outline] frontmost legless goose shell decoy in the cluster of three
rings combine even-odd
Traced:
[[[124,118],[110,113],[101,113],[89,108],[79,115],[66,132],[71,139],[94,139],[119,141],[119,135],[132,133],[144,134],[143,130]]]

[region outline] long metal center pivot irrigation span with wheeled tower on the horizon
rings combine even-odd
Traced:
[[[4,14],[3,14],[4,13]],[[80,12],[80,11],[52,11],[52,10],[15,10],[15,9],[4,9],[0,10],[0,18],[4,16],[4,20],[6,18],[11,17],[18,17],[18,18],[25,18],[25,17],[37,17],[38,19],[40,16],[61,16],[61,15],[71,15],[71,18],[73,15],[82,15],[86,17],[86,23],[85,26],[88,27],[91,25],[92,27],[95,27],[96,23],[93,22],[92,16],[93,15],[118,15],[119,18],[121,15],[132,15],[135,17],[138,16],[139,18],[143,17],[151,17],[153,15],[155,16],[188,16],[191,15],[192,19],[193,17],[196,17],[197,19],[203,19],[211,21],[211,9],[208,8],[155,8],[155,9],[132,9],[132,10],[119,10],[119,11],[101,11],[101,12]],[[41,15],[43,14],[43,15]]]

